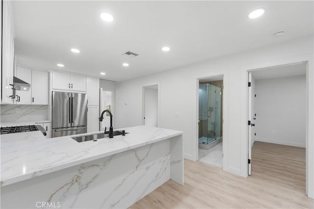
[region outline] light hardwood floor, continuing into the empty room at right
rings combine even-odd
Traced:
[[[305,195],[305,149],[255,142],[252,175],[222,171],[201,161],[184,161],[184,185],[171,180],[131,209],[311,208]]]

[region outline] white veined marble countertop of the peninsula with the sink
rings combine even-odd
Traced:
[[[80,143],[70,136],[47,139],[40,131],[2,134],[0,185],[17,183],[183,134],[182,131],[146,126],[119,130],[129,134]]]

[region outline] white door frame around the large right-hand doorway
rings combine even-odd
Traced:
[[[306,95],[307,95],[307,118],[306,118],[306,194],[314,197],[314,59],[313,54],[290,57],[287,59],[275,60],[257,65],[241,67],[241,89],[245,89],[241,94],[241,147],[245,148],[241,153],[242,176],[248,176],[248,73],[270,67],[285,66],[297,63],[307,63],[306,70]],[[312,108],[311,108],[312,107]]]

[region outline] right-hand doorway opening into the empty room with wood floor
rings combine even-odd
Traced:
[[[307,63],[251,70],[248,81],[248,175],[305,191]]]

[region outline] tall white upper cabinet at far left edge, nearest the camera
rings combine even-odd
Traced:
[[[12,14],[8,0],[2,1],[2,33],[1,33],[1,103],[13,104],[15,90],[13,89],[13,66],[14,66],[14,37]]]

